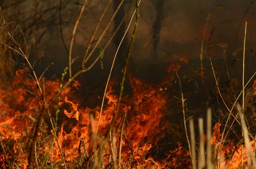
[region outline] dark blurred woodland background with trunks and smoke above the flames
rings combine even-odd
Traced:
[[[121,0],[113,0],[111,8],[108,8],[103,22],[96,33],[95,39],[102,33],[113,11],[120,2]],[[77,29],[73,55],[79,56],[84,54],[86,45],[98,22],[98,18],[107,3],[107,0],[88,1]],[[114,32],[121,22],[122,17],[127,12],[130,3],[131,0],[125,0],[113,23],[111,23],[106,36],[111,36],[111,33]],[[54,63],[54,66],[50,67],[49,72],[45,76],[50,78],[53,74],[56,74],[60,77],[63,69],[67,66],[67,48],[70,45],[73,26],[82,4],[83,0],[0,1],[0,7],[8,17],[8,21],[20,24],[24,34],[26,34],[27,48],[29,59],[32,60],[31,62],[33,63],[33,60],[40,60],[35,63],[35,70],[38,74],[41,74],[50,63]],[[134,9],[135,7],[132,6],[132,8]],[[78,77],[79,82],[84,84],[82,86],[88,87],[88,89],[84,89],[85,93],[89,93],[91,89],[98,86],[108,75],[111,60],[128,26],[131,15],[132,12],[129,13],[125,23],[120,27],[113,43],[105,51],[104,57],[102,58],[103,69],[101,69],[101,63],[99,61],[93,67],[93,73],[83,74]],[[206,26],[208,16],[209,24]],[[200,98],[196,100],[197,102],[200,101],[200,105],[206,104],[209,106],[211,103],[209,103],[209,97],[205,95],[205,87],[203,86],[201,75],[198,73],[201,71],[201,44],[203,44],[202,63],[204,66],[203,73],[206,79],[207,94],[210,97],[215,97],[211,95],[215,91],[215,83],[212,77],[212,69],[209,69],[210,62],[207,54],[208,39],[211,31],[213,31],[211,38],[212,59],[215,64],[217,76],[223,85],[222,87],[225,88],[228,85],[226,83],[225,64],[218,64],[224,63],[224,49],[220,47],[219,43],[227,44],[225,52],[230,76],[235,84],[234,87],[239,87],[239,85],[241,87],[241,84],[237,83],[237,80],[241,80],[242,77],[241,48],[243,47],[245,21],[247,21],[245,79],[248,80],[255,71],[255,19],[256,6],[252,0],[142,0],[140,3],[140,23],[130,60],[132,73],[135,77],[148,82],[160,83],[168,76],[166,69],[172,64],[174,57],[189,60],[190,64],[184,64],[179,72],[180,77],[187,77],[184,80],[183,88],[184,95],[189,100],[188,106],[191,109],[198,109],[198,103],[195,104],[195,99],[193,98]],[[132,31],[132,29],[129,29],[128,36],[125,37],[119,50],[116,61],[117,66],[113,72],[115,77],[122,76],[121,69],[125,63],[124,54],[128,50],[128,43],[131,39]],[[17,36],[22,40],[21,35]],[[104,46],[106,40],[102,40],[101,43],[101,46]],[[99,47],[95,52],[95,56],[99,54],[100,50]],[[10,55],[12,54],[9,53]],[[3,83],[8,81],[7,76],[12,74],[15,69],[23,66],[20,64],[20,60],[18,62],[19,64],[12,66],[12,63],[16,63],[17,60],[15,59],[17,57],[13,57],[15,59],[11,60],[9,56],[1,57],[1,63],[3,65],[0,71],[1,74],[6,74],[6,76],[2,75],[0,77]],[[3,60],[9,61],[6,62]],[[80,61],[81,58],[77,63],[80,63]],[[73,64],[73,70],[80,69],[79,66],[75,62]],[[100,92],[104,89],[105,83],[102,83],[102,85],[98,86]],[[179,86],[177,86],[177,89],[179,89]],[[193,95],[191,95],[192,91]]]

